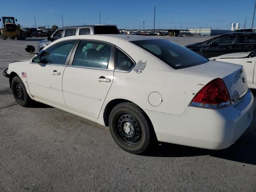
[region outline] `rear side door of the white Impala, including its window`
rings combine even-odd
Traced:
[[[79,42],[62,80],[64,100],[70,110],[98,118],[113,82],[113,49],[104,42]]]

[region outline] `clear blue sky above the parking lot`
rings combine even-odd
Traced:
[[[116,24],[118,28],[210,28],[230,29],[239,22],[240,28],[252,26],[255,0],[2,0],[0,16],[14,16],[22,26],[57,24],[64,26]],[[3,6],[4,5],[4,6]],[[256,22],[255,22],[256,23]],[[256,26],[255,26],[256,28]]]

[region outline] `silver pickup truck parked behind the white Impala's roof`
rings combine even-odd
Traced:
[[[62,27],[57,29],[50,37],[48,37],[47,40],[40,41],[38,43],[38,51],[62,37],[93,34],[119,34],[119,31],[116,25],[82,25]]]

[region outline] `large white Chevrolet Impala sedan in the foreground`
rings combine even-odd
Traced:
[[[109,126],[118,146],[133,154],[156,140],[227,148],[252,121],[242,66],[158,37],[61,38],[31,60],[10,63],[4,76],[21,106],[42,102]]]

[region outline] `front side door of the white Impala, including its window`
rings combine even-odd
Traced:
[[[62,93],[62,76],[76,40],[63,41],[32,58],[28,68],[28,88],[33,97],[66,107]]]

